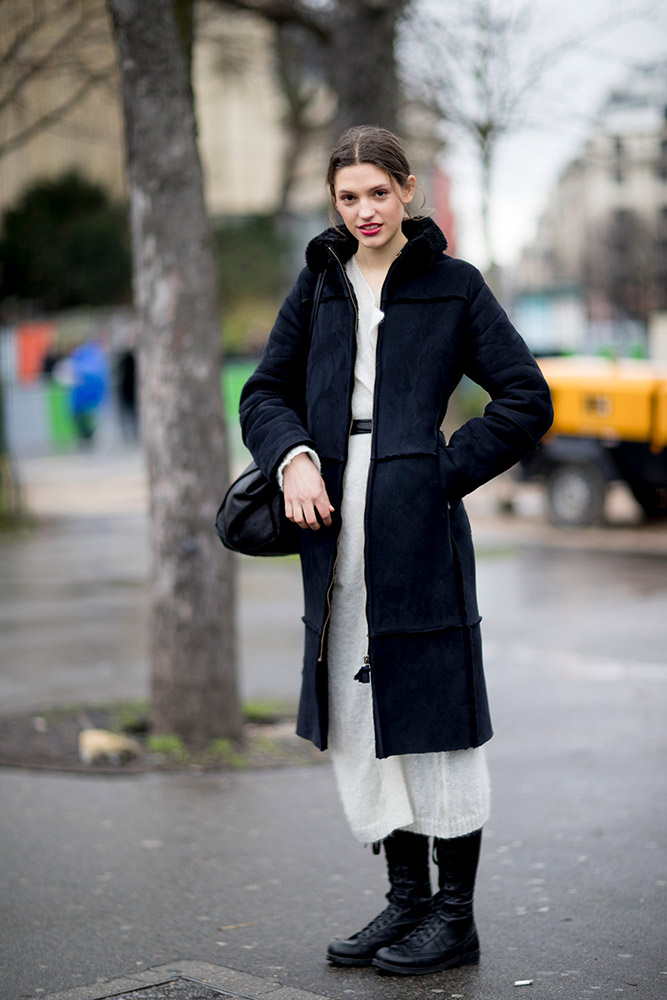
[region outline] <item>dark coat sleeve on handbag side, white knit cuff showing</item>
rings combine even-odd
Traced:
[[[241,392],[243,441],[267,479],[295,445],[315,442],[303,424],[308,325],[315,277],[305,268],[283,302],[262,359]]]

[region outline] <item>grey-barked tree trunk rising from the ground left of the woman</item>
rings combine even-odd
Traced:
[[[220,317],[188,76],[173,4],[107,0],[119,52],[140,319],[153,555],[152,721],[192,749],[242,732]]]

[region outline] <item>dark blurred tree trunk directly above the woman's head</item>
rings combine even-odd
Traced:
[[[394,43],[406,0],[338,0],[332,13],[330,80],[338,95],[334,139],[352,125],[397,130]]]

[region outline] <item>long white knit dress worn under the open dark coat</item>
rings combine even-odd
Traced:
[[[383,314],[354,257],[346,270],[359,306],[352,396],[352,416],[358,420],[373,414],[375,347]],[[372,688],[354,679],[368,650],[364,508],[370,448],[370,434],[350,438],[327,646],[329,752],[343,809],[358,840],[381,840],[396,829],[460,837],[479,829],[489,815],[484,748],[379,760]]]

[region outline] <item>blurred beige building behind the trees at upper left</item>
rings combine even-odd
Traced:
[[[199,4],[197,17],[193,87],[209,208],[274,211],[288,137],[273,29],[214,5]],[[104,0],[4,0],[0,36],[5,57],[13,52],[3,60],[0,90],[0,212],[36,180],[73,167],[123,197],[122,109]],[[296,210],[323,202],[317,154],[307,150],[305,164]]]

